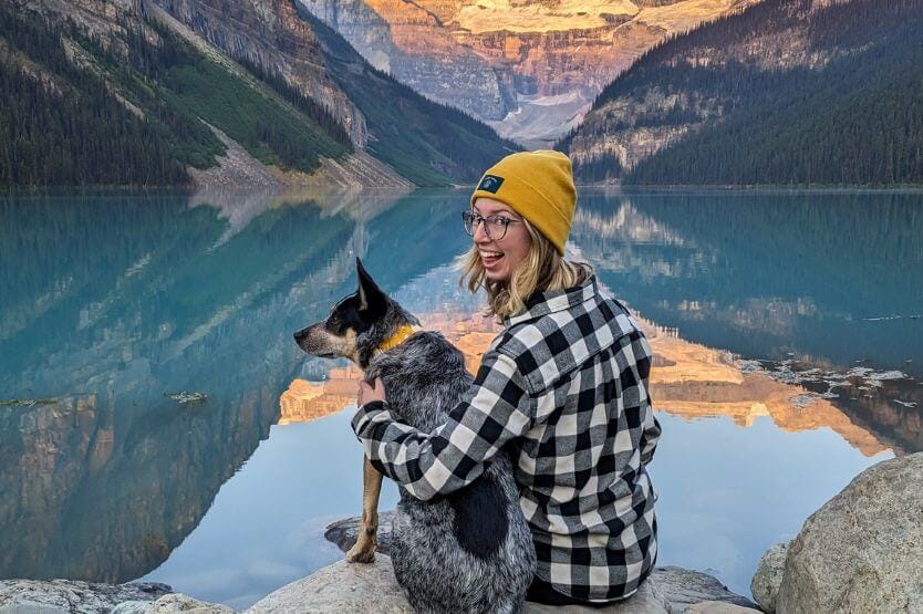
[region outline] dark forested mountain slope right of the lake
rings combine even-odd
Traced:
[[[582,181],[923,183],[923,1],[766,0],[651,50],[559,143]]]

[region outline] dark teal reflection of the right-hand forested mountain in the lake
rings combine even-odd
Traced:
[[[919,192],[592,192],[572,239],[618,295],[686,340],[770,364],[901,371],[902,382],[832,403],[916,451],[922,204]]]

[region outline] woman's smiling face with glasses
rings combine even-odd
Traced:
[[[492,198],[478,198],[475,200],[471,210],[485,218],[501,216],[512,220],[502,239],[498,240],[487,236],[485,226],[489,222],[479,223],[473,237],[487,279],[502,283],[509,282],[512,273],[526,259],[532,244],[532,238],[522,221],[522,216]],[[494,236],[497,236],[494,228],[491,225],[490,231]]]

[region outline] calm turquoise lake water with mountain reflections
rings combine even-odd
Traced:
[[[360,511],[355,373],[291,334],[361,256],[476,364],[496,329],[450,267],[466,202],[0,198],[0,577],[145,577],[242,608],[340,559],[322,535]],[[766,548],[923,450],[920,192],[588,190],[570,250],[654,346],[658,564],[749,594]]]

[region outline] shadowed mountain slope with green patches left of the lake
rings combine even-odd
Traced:
[[[0,186],[450,185],[516,147],[323,29],[292,0],[4,3]]]

